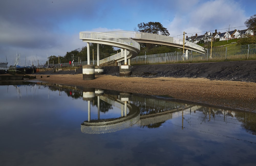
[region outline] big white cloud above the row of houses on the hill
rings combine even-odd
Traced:
[[[240,4],[234,1],[216,0],[197,4],[196,2],[190,3],[192,7],[175,15],[167,28],[171,36],[183,34],[183,31],[193,35],[195,33],[201,35],[209,30],[228,29],[229,25],[230,30],[234,30],[236,27],[244,26],[244,21],[247,19],[244,10],[240,8]],[[236,29],[246,29],[246,27]],[[178,38],[181,37],[183,35]]]

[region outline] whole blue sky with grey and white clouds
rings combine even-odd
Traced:
[[[0,62],[7,57],[8,66],[14,65],[20,53],[20,65],[26,56],[43,63],[47,55],[86,46],[79,32],[133,31],[141,22],[160,22],[178,38],[184,31],[242,30],[255,6],[255,0],[2,0]]]

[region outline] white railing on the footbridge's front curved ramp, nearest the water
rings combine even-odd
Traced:
[[[119,36],[110,33],[101,33],[101,32],[80,32],[80,39],[92,39],[99,41],[107,41],[112,43],[118,43],[122,45],[127,45],[129,47],[136,48],[140,50],[140,44],[131,38],[127,38],[124,36]]]

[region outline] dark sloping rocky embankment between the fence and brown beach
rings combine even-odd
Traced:
[[[82,68],[76,71],[47,71],[36,74],[82,74]],[[118,76],[119,67],[106,66],[104,67],[104,74]],[[256,60],[137,65],[133,66],[131,76],[144,78],[207,78],[211,80],[256,82]]]

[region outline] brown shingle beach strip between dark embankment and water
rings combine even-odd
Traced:
[[[42,78],[41,78],[42,76]],[[95,87],[108,90],[164,95],[201,104],[256,112],[256,83],[206,78],[141,78],[113,75],[83,80],[82,74],[37,75],[38,82]]]

